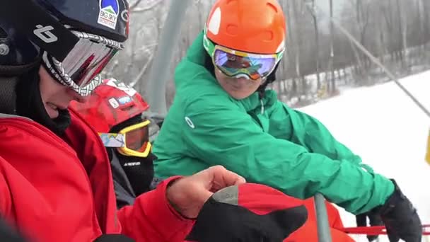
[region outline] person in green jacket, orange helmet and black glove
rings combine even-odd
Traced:
[[[421,241],[421,221],[394,180],[374,173],[321,122],[266,90],[285,38],[276,0],[216,1],[175,69],[175,99],[153,146],[156,175],[191,175],[221,164],[293,197],[320,192],[353,214],[380,215],[391,241]]]

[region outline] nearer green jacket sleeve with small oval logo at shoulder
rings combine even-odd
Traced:
[[[194,98],[185,105],[182,122],[188,155],[209,166],[221,164],[248,182],[266,184],[294,197],[307,198],[321,192],[327,200],[354,214],[383,204],[393,192],[393,183],[381,175],[332,159],[335,156],[330,152],[310,152],[322,149],[322,144],[311,149],[296,144],[312,142],[312,134],[291,133],[295,142],[279,139],[264,132],[237,105],[217,100],[219,97],[210,95]],[[298,128],[300,117],[308,118],[285,117],[285,122]]]

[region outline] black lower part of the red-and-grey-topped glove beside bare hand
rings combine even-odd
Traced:
[[[308,219],[305,206],[259,215],[245,207],[212,198],[203,205],[187,241],[274,242],[283,241]]]

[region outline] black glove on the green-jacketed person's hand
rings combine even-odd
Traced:
[[[422,224],[417,209],[403,195],[395,180],[392,181],[395,185],[393,194],[382,207],[378,207],[388,238],[390,242],[397,242],[400,238],[405,242],[421,242]]]

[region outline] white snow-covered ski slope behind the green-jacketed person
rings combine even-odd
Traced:
[[[400,83],[430,110],[430,71]],[[430,166],[424,161],[430,117],[393,81],[349,89],[299,110],[321,120],[376,173],[395,178],[423,224],[430,224]],[[356,226],[355,217],[340,210],[345,226]],[[364,236],[354,238],[367,241]]]

